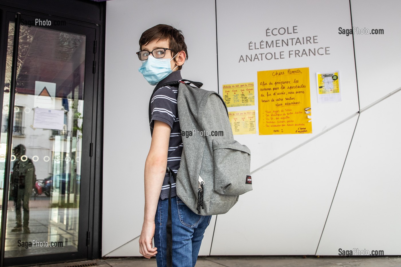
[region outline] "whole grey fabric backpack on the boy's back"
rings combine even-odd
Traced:
[[[227,107],[202,83],[182,80],[178,117],[183,151],[176,176],[177,196],[201,215],[226,213],[239,195],[252,190],[251,151],[233,138]],[[192,83],[196,87],[189,84]]]

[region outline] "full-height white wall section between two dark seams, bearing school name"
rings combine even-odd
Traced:
[[[336,1],[336,8],[330,8],[330,12],[311,8],[321,6],[319,0],[230,3],[217,1],[220,86],[253,82],[257,91],[257,71],[309,67],[312,134],[236,136],[251,149],[251,170],[274,162],[252,174],[254,190],[241,196],[233,211],[217,216],[211,255],[314,255],[357,119],[352,36],[338,34],[339,26],[351,28],[349,2]],[[297,26],[297,34],[266,36],[267,28],[293,26]],[[317,36],[318,43],[259,51],[249,50],[248,46],[250,41],[305,36]],[[288,57],[289,50],[315,47],[330,47],[330,55]],[[239,62],[239,55],[279,51],[284,51],[284,59]],[[337,70],[342,101],[318,104],[316,72]],[[255,109],[257,118],[257,97],[255,106],[242,109]],[[304,142],[308,143],[298,147]],[[290,150],[293,151],[286,154]],[[286,155],[277,159],[283,154]],[[237,235],[230,235],[233,231]]]

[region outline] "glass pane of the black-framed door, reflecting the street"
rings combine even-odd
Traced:
[[[7,149],[13,36],[14,22],[10,22],[0,188]],[[78,249],[86,42],[81,34],[20,26],[5,258]]]

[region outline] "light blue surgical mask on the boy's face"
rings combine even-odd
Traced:
[[[174,57],[176,57],[176,55]],[[148,59],[142,63],[138,71],[144,75],[144,78],[150,85],[156,85],[178,67],[177,65],[173,70],[171,69],[170,61],[172,61],[174,57],[172,59],[156,59],[152,55],[149,55]]]

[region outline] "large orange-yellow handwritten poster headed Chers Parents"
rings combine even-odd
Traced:
[[[310,134],[309,68],[258,71],[259,135]]]

